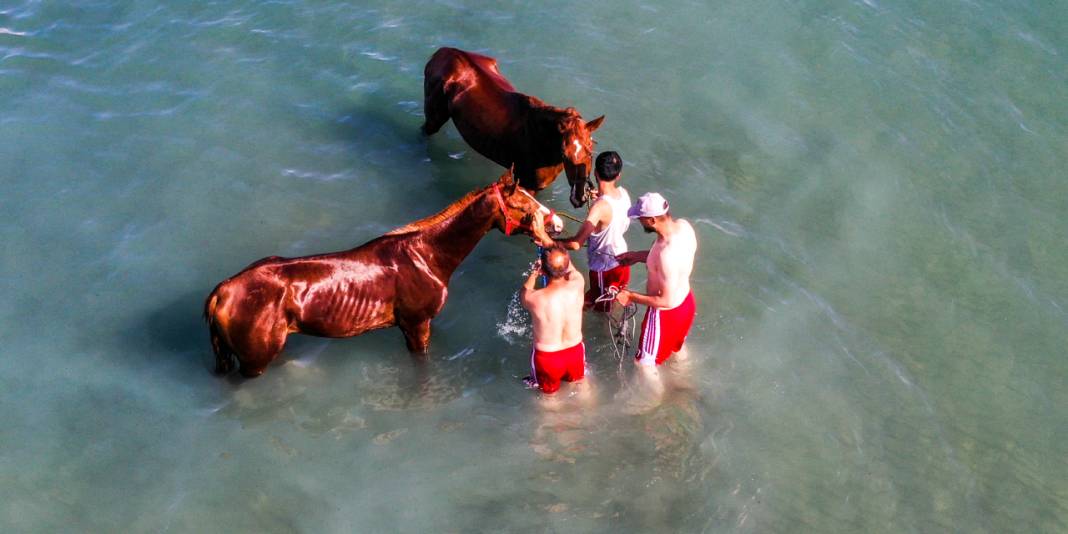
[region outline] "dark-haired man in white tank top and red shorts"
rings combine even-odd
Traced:
[[[616,290],[627,287],[630,282],[630,266],[621,265],[615,256],[627,252],[627,241],[623,235],[630,227],[630,195],[619,187],[623,159],[614,152],[597,155],[594,175],[597,176],[597,201],[590,206],[590,214],[582,227],[574,237],[556,242],[570,250],[578,250],[584,242],[590,265],[590,290],[585,296],[585,308],[607,312],[612,300],[595,301],[610,287]]]

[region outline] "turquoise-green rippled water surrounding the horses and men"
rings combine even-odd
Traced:
[[[1063,2],[10,0],[0,524],[1068,531],[1064,28]],[[533,252],[496,232],[426,365],[393,329],[210,373],[217,282],[500,172],[419,136],[446,45],[607,115],[624,185],[693,222],[692,389],[626,413],[590,316],[596,403],[547,411],[517,379]]]

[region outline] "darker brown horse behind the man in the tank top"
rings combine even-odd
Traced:
[[[440,48],[423,70],[423,134],[453,120],[472,148],[504,167],[515,166],[519,185],[540,191],[561,170],[575,207],[586,201],[593,170],[591,135],[604,121],[584,122],[575,108],[555,108],[517,93],[497,69],[497,60]]]

